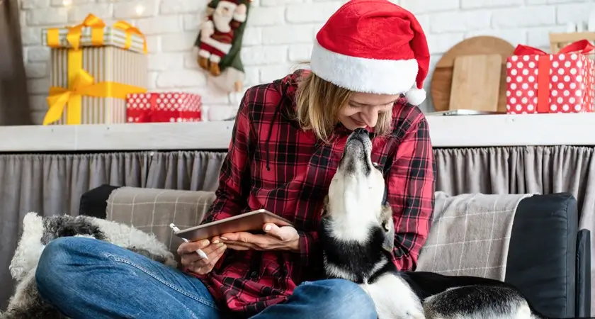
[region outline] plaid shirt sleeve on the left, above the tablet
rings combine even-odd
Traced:
[[[203,223],[238,215],[248,206],[249,162],[254,152],[249,119],[250,103],[247,98],[250,92],[246,91],[239,105],[232,140],[221,165],[219,186],[215,191],[216,198],[203,218]]]

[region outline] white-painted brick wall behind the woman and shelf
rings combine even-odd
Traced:
[[[64,1],[72,6],[64,6]],[[254,0],[244,35],[242,58],[246,87],[268,82],[307,60],[312,38],[344,1]],[[566,23],[587,21],[595,0],[397,0],[416,14],[428,37],[432,66],[451,46],[475,35],[495,35],[513,45],[548,49],[548,32]],[[21,0],[21,23],[28,84],[36,121],[47,108],[49,51],[40,29],[79,23],[94,13],[106,23],[125,19],[138,26],[149,43],[149,89],[182,89],[203,95],[205,117],[232,116],[241,94],[215,88],[198,68],[191,47],[206,0]],[[139,12],[138,6],[144,10]],[[395,74],[398,77],[398,74]],[[429,79],[426,81],[429,90]],[[431,103],[421,106],[432,110]]]

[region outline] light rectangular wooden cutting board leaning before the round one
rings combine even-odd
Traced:
[[[456,57],[450,110],[498,111],[501,67],[499,54]]]

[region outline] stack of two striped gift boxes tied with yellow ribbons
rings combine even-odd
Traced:
[[[51,48],[50,94],[43,124],[126,123],[126,97],[147,91],[147,43],[125,21],[42,30]]]

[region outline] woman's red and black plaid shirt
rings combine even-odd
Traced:
[[[300,233],[299,254],[227,250],[210,274],[199,276],[233,313],[258,313],[285,301],[300,282],[322,276],[316,231],[321,204],[350,132],[339,124],[331,144],[325,144],[311,130],[300,129],[293,114],[301,72],[246,91],[217,198],[203,221],[266,208],[293,221]],[[423,113],[403,100],[395,103],[393,117],[392,135],[373,139],[372,159],[384,167],[394,211],[393,262],[414,269],[429,233],[436,171]]]

